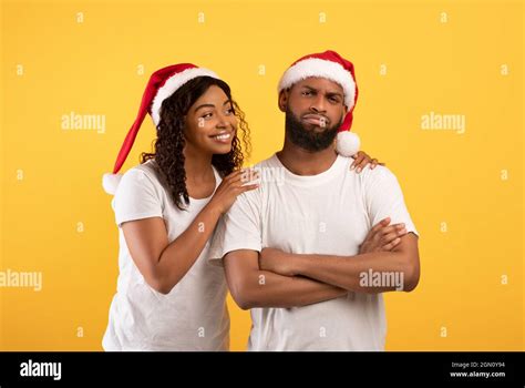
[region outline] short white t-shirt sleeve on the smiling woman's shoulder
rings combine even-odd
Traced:
[[[113,198],[113,210],[119,227],[127,221],[163,215],[161,194],[153,180],[141,170],[124,174]]]

